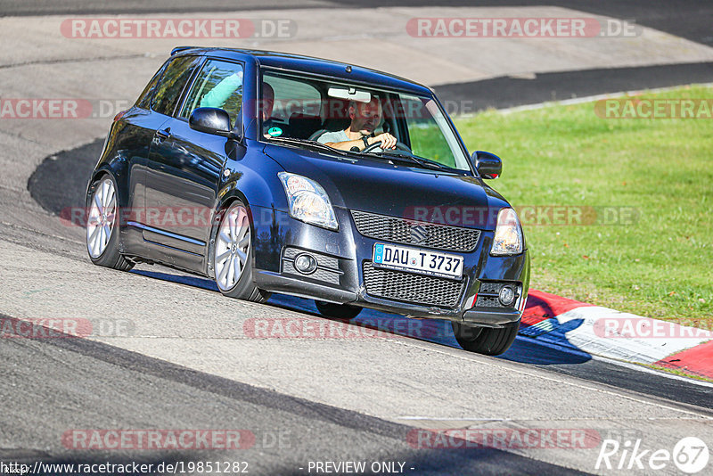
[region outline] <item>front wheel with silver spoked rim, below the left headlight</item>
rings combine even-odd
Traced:
[[[268,292],[255,285],[252,224],[248,208],[242,201],[233,201],[221,217],[212,264],[217,288],[223,295],[253,302],[265,302],[270,298]]]

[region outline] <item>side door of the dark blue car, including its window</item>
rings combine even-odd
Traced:
[[[242,109],[242,64],[207,60],[176,108],[157,131],[149,152],[152,174],[146,186],[146,209],[153,220],[147,239],[168,247],[174,264],[201,271],[209,241],[211,212],[225,164],[225,137],[193,130],[191,112],[198,107],[228,111],[231,123]]]

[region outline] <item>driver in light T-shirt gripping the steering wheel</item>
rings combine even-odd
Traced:
[[[351,151],[356,147],[363,151],[367,146],[381,142],[381,149],[396,149],[397,139],[388,132],[373,135],[373,130],[381,122],[381,103],[379,98],[372,96],[369,103],[349,103],[349,118],[351,124],[344,130],[325,132],[317,138],[317,142],[329,145],[342,151]]]

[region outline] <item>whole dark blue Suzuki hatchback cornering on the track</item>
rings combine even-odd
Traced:
[[[433,91],[286,53],[179,47],[114,118],[86,192],[94,264],[160,263],[226,296],[314,299],[448,319],[500,354],[520,324],[529,253]]]

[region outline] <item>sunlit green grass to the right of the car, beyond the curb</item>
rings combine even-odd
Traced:
[[[713,89],[644,96],[713,98]],[[583,103],[455,122],[469,150],[503,159],[488,184],[516,208],[637,212],[628,226],[526,224],[531,287],[713,328],[713,119],[601,119]]]

